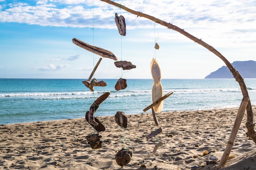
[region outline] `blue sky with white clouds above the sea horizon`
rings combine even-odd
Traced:
[[[256,60],[255,0],[114,1],[179,26],[231,63]],[[115,13],[126,19],[126,36],[118,33]],[[0,78],[87,79],[100,56],[72,38],[137,66],[121,71],[103,58],[97,79],[152,78],[153,57],[166,79],[201,79],[225,65],[184,35],[100,0],[0,0]]]

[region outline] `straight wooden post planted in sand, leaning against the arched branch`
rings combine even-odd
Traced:
[[[236,135],[237,135],[238,129],[240,127],[241,121],[243,119],[243,116],[245,114],[245,109],[247,108],[249,100],[250,100],[249,97],[244,97],[242,99],[242,102],[240,104],[240,107],[239,107],[239,110],[238,110],[238,113],[237,113],[237,116],[236,116],[236,120],[234,122],[231,134],[229,136],[229,141],[227,142],[226,149],[225,149],[225,151],[224,151],[224,153],[223,153],[223,155],[220,159],[217,170],[220,169],[222,166],[224,166],[225,163],[227,162],[227,159],[229,157],[232,146],[233,146],[234,141],[236,139]]]

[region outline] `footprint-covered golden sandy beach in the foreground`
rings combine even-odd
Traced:
[[[256,106],[252,106],[254,114]],[[126,115],[121,128],[114,116],[97,117],[106,127],[95,131],[85,118],[0,125],[0,170],[215,170],[210,157],[222,157],[238,108],[172,111]],[[97,116],[97,115],[96,115]],[[246,137],[246,112],[234,146],[222,170],[252,170],[256,145]],[[158,128],[162,132],[147,138]],[[101,135],[102,148],[92,149],[86,136]],[[160,146],[152,152],[158,142]],[[130,162],[121,168],[115,160],[121,148],[131,149]],[[203,152],[209,152],[202,156]]]

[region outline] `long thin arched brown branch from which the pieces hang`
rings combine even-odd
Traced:
[[[106,2],[108,4],[111,4],[111,5],[114,5],[116,7],[119,7],[121,9],[124,9],[125,11],[127,11],[129,13],[132,13],[132,14],[135,14],[137,16],[148,18],[149,20],[152,20],[153,22],[156,22],[158,24],[166,26],[168,29],[172,29],[174,31],[177,31],[177,32],[181,33],[182,35],[186,36],[187,38],[193,40],[194,42],[202,45],[203,47],[205,47],[206,49],[208,49],[209,51],[211,51],[212,53],[217,55],[227,65],[227,67],[229,68],[229,71],[233,74],[234,78],[238,82],[238,84],[241,88],[243,97],[249,97],[247,87],[245,85],[245,81],[244,81],[243,77],[240,75],[240,73],[238,71],[236,71],[236,68],[234,68],[234,66],[219,51],[217,51],[216,49],[213,48],[213,46],[210,46],[209,44],[202,41],[201,39],[196,38],[195,36],[193,36],[193,35],[189,34],[188,32],[184,31],[184,29],[181,29],[178,26],[175,26],[171,23],[165,22],[163,20],[160,20],[158,18],[155,18],[151,15],[147,15],[147,14],[142,13],[142,12],[134,11],[132,9],[129,9],[128,7],[125,7],[124,5],[118,4],[118,3],[113,2],[111,0],[101,0],[101,1]],[[256,132],[254,130],[255,124],[253,123],[253,113],[252,113],[251,101],[248,102],[246,110],[247,110],[247,122],[246,122],[245,126],[248,130],[246,132],[246,135],[247,135],[247,137],[251,138],[254,141],[254,143],[256,144]]]

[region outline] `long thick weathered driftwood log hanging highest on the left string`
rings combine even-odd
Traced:
[[[83,42],[77,38],[73,38],[73,43],[76,44],[77,46],[80,46],[81,48],[85,49],[85,50],[88,50],[94,54],[98,54],[100,55],[101,57],[105,57],[105,58],[110,58],[110,59],[113,59],[113,60],[117,60],[117,57],[111,52],[111,51],[108,51],[108,50],[105,50],[105,49],[102,49],[100,47],[97,47],[97,46],[92,46],[90,44],[87,44],[86,42]]]

